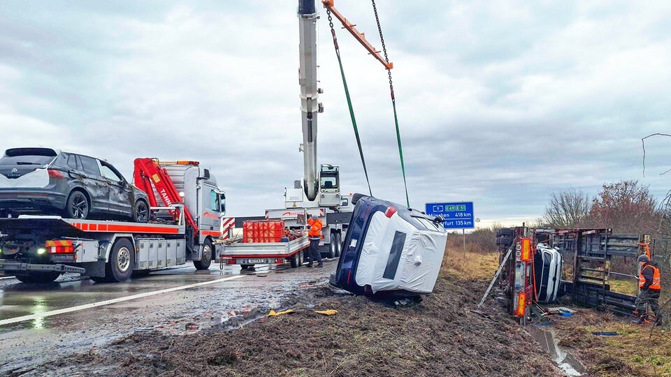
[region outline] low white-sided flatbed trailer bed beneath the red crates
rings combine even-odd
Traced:
[[[289,242],[254,242],[224,244],[217,261],[243,268],[256,264],[278,265],[289,260],[291,267],[303,264],[303,251],[310,246],[310,239],[303,235]]]

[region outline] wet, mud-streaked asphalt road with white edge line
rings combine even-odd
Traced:
[[[254,272],[187,265],[124,283],[74,275],[50,285],[0,279],[0,374],[35,371],[133,332],[182,334],[238,325],[281,309],[297,290],[327,283],[334,262],[323,269],[259,265]]]

